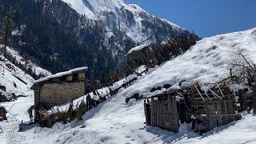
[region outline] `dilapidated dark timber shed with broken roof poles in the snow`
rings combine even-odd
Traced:
[[[226,84],[201,90],[200,86],[170,90],[144,100],[147,126],[178,132],[180,123],[191,123],[199,134],[241,118],[234,94]]]

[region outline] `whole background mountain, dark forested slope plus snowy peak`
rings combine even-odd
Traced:
[[[0,1],[0,5],[4,11],[15,7],[19,12],[13,17],[11,47],[52,73],[88,66],[90,79],[102,80],[116,70],[134,46],[190,35],[122,0]]]

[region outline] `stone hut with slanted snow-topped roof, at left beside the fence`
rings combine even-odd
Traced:
[[[87,69],[86,66],[79,67],[34,82],[31,87],[34,90],[34,106],[49,109],[85,95]]]

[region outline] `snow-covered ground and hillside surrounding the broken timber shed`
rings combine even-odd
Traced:
[[[226,77],[228,62],[242,50],[246,58],[256,62],[256,29],[205,38],[178,58],[165,62],[138,78],[133,85],[122,88],[114,97],[88,111],[82,121],[62,125],[57,123],[47,129],[32,127],[18,132],[16,119],[24,118],[25,108],[18,103],[6,102],[10,109],[10,122],[0,122],[4,133],[3,143],[256,143],[256,116],[242,114],[238,122],[231,122],[203,134],[190,130],[183,124],[174,134],[155,127],[144,127],[145,116],[142,101],[126,97],[134,93],[150,95],[150,89],[163,84],[177,85],[181,80],[194,82],[216,82]],[[122,83],[120,81],[120,83]],[[31,101],[30,101],[31,100]],[[20,98],[16,102],[33,102],[33,98]],[[30,105],[24,103],[24,105]],[[17,110],[18,109],[18,110]],[[18,114],[17,114],[18,113]],[[20,115],[19,115],[20,114]],[[10,133],[10,130],[14,130]],[[14,136],[15,135],[15,136]]]

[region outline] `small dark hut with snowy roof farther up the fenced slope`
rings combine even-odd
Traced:
[[[157,64],[154,51],[149,44],[143,44],[129,50],[126,54],[126,69],[134,72],[138,66],[146,65],[152,67]]]

